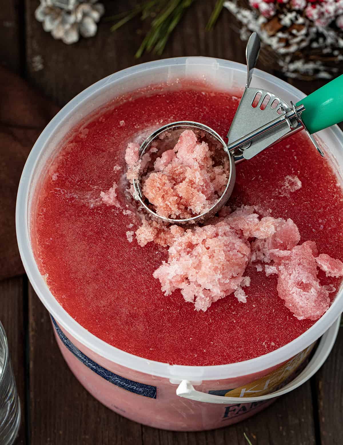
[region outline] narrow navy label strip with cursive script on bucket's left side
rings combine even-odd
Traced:
[[[83,352],[81,352],[76,346],[71,343],[71,341],[64,335],[62,330],[59,328],[59,325],[56,323],[55,319],[51,316],[52,323],[54,328],[59,336],[59,339],[62,341],[64,346],[72,353],[74,356],[80,360],[87,368],[91,369],[93,372],[98,374],[98,376],[103,377],[103,379],[107,380],[110,383],[118,386],[119,388],[125,389],[126,391],[134,392],[139,396],[149,397],[150,399],[156,399],[156,386],[147,385],[145,383],[134,382],[133,380],[128,380],[122,376],[118,376],[118,374],[114,374],[110,372],[108,369],[103,368],[99,364],[97,364],[94,360],[87,357]]]

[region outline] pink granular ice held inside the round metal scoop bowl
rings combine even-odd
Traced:
[[[150,161],[150,154],[145,156],[149,158],[138,161],[138,147],[129,144],[125,156],[129,181]],[[172,149],[156,158],[154,170],[142,178],[142,192],[157,214],[185,219],[209,210],[227,181],[225,166],[215,165],[209,144],[185,130]]]

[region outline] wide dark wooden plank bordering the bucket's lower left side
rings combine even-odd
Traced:
[[[140,445],[141,425],[96,401],[68,369],[29,286],[31,445]]]

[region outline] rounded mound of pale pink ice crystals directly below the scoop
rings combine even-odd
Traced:
[[[206,311],[214,301],[237,290],[250,258],[250,244],[229,223],[188,229],[170,246],[168,262],[155,272],[166,295],[176,289],[197,311]],[[245,301],[245,293],[237,298]]]

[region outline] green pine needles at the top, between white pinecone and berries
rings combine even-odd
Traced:
[[[118,20],[110,29],[117,31],[124,24],[141,16],[141,20],[150,20],[150,30],[146,33],[135,57],[139,58],[142,54],[153,52],[160,56],[166,47],[168,39],[177,25],[180,23],[184,13],[191,6],[194,0],[149,0],[138,4],[128,12],[122,12],[107,20]],[[224,0],[218,0],[213,13],[209,19],[206,29],[213,28],[217,21]]]

